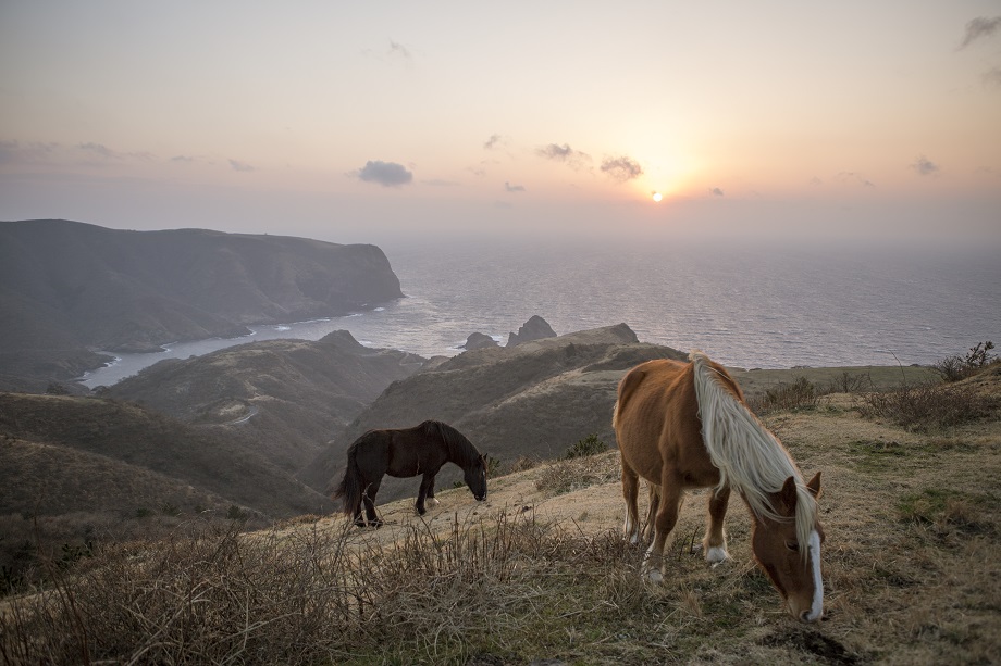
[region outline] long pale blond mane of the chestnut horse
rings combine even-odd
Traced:
[[[759,517],[782,519],[768,502],[768,493],[782,489],[786,479],[796,483],[796,537],[810,541],[816,526],[817,502],[803,482],[803,475],[789,452],[751,410],[737,397],[729,375],[714,367],[699,350],[690,356],[695,380],[702,439],[713,464],[719,469],[719,486],[737,489]],[[733,385],[736,387],[736,384]],[[801,549],[804,556],[806,549]]]

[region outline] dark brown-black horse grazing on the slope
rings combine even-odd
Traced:
[[[344,499],[344,513],[355,516],[355,525],[381,527],[375,515],[375,493],[386,474],[395,477],[423,475],[417,494],[417,513],[424,515],[424,500],[434,499],[434,477],[445,463],[462,468],[466,485],[477,500],[486,499],[486,456],[466,437],[447,424],[425,420],[412,428],[369,430],[347,450],[344,479],[333,495]]]

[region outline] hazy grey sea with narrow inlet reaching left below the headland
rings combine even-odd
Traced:
[[[641,342],[743,368],[924,365],[1001,343],[997,248],[468,238],[380,247],[405,298],[249,326],[239,338],[113,353],[81,381],[111,386],[164,359],[334,330],[372,348],[453,356],[472,332],[506,343],[532,315],[559,335],[625,323]]]

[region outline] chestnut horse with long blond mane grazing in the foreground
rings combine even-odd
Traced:
[[[754,557],[789,611],[803,621],[821,616],[820,473],[803,481],[784,447],[751,412],[722,366],[699,351],[691,353],[690,363],[656,360],[638,365],[619,382],[613,425],[622,458],[625,530],[633,543],[640,539],[639,477],[651,485],[654,538],[643,565],[651,580],[667,574],[664,546],[685,489],[715,487],[702,544],[708,562],[729,558],[724,516],[736,490],[753,518]]]

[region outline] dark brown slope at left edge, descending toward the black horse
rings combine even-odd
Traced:
[[[156,532],[143,522],[155,515],[270,520],[330,508],[225,432],[107,399],[0,393],[3,566],[26,540],[128,532],[137,520]]]

